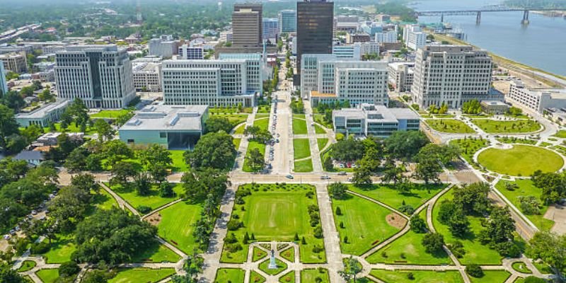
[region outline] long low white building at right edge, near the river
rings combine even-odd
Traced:
[[[547,108],[566,108],[566,89],[529,89],[521,81],[511,82],[505,98],[539,113]]]

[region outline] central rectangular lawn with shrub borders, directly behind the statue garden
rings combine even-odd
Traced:
[[[244,233],[255,236],[257,241],[293,241],[295,233],[304,237],[306,244],[299,243],[301,262],[325,262],[325,253],[313,253],[315,245],[324,247],[323,240],[314,237],[314,228],[310,225],[307,207],[315,204],[316,192],[311,185],[287,184],[251,184],[242,185],[238,190],[249,189],[252,194],[243,197],[243,204],[235,204],[232,219],[243,222],[243,228],[234,233],[242,241]],[[306,196],[310,192],[311,198]],[[244,262],[248,245],[243,249],[222,253],[222,262]]]

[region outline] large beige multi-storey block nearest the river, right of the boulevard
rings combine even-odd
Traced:
[[[467,45],[426,45],[417,50],[412,98],[429,105],[460,108],[469,100],[503,100],[491,89],[492,59]]]

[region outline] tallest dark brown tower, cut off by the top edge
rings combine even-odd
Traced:
[[[303,54],[332,54],[334,3],[326,0],[304,0],[296,3],[297,69],[301,70]],[[296,76],[294,83],[300,83]]]

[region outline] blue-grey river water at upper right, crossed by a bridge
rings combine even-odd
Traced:
[[[417,0],[417,11],[473,10],[497,2],[483,0]],[[482,13],[480,25],[474,16],[444,16],[445,23],[461,28],[466,41],[538,69],[566,76],[566,20],[531,12],[529,25],[521,25],[523,12]],[[420,23],[439,23],[440,17],[420,17]]]

